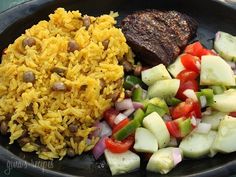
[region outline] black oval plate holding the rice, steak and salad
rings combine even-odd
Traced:
[[[118,11],[120,20],[133,11],[156,8],[175,9],[187,13],[199,22],[197,39],[207,47],[212,47],[212,39],[218,30],[236,35],[235,4],[225,5],[214,0],[34,0],[27,2],[0,14],[0,51],[12,43],[25,29],[43,19],[57,7],[67,10],[79,9],[82,13],[99,15]],[[74,159],[64,158],[62,161],[42,161],[33,153],[20,151],[17,145],[8,145],[6,137],[0,136],[0,162],[6,169],[19,168],[35,176],[111,176],[104,158],[95,161],[88,153]],[[40,168],[41,167],[41,168]],[[210,159],[185,160],[165,176],[229,176],[236,173],[236,153],[218,154]],[[141,170],[123,177],[156,177],[155,173]]]

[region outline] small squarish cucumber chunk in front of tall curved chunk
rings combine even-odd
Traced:
[[[137,128],[134,149],[137,152],[156,152],[158,150],[156,137],[146,128]]]

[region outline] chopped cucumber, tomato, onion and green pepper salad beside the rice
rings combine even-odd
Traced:
[[[170,66],[136,66],[125,99],[104,112],[94,132],[95,159],[112,175],[140,167],[166,174],[184,158],[236,151],[236,37],[218,32],[214,50],[197,41]]]

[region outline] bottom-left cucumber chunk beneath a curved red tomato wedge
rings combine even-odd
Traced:
[[[140,157],[131,151],[112,153],[106,149],[105,157],[112,175],[127,173],[140,167]]]

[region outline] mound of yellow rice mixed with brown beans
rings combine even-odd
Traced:
[[[132,62],[116,15],[59,8],[9,45],[0,65],[0,124],[10,144],[50,160],[93,148],[94,124],[123,96],[118,63]]]

